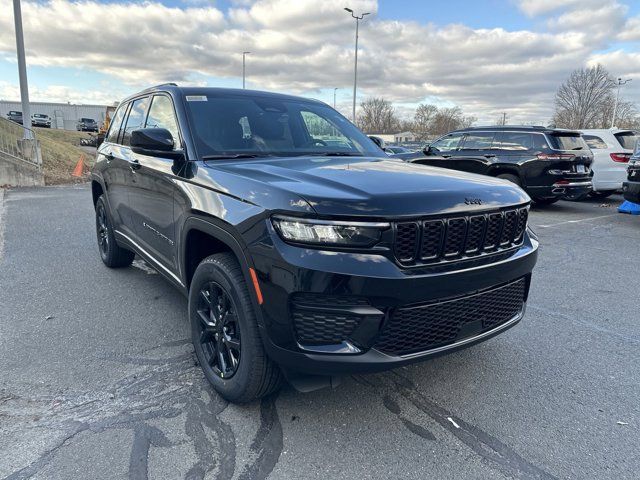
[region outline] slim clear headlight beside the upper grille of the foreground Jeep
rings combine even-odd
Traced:
[[[370,247],[380,240],[388,223],[337,222],[275,216],[271,219],[286,242],[343,247]]]

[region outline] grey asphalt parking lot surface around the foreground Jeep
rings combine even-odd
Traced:
[[[525,319],[334,390],[229,405],[186,300],[105,268],[87,186],[0,191],[0,477],[637,478],[640,217],[535,208]]]

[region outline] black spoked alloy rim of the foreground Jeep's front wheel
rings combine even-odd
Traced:
[[[200,289],[200,344],[206,363],[220,378],[229,379],[240,365],[240,323],[231,296],[217,282]]]

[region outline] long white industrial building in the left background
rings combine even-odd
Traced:
[[[42,113],[51,117],[51,128],[75,130],[79,118],[93,118],[101,126],[107,114],[107,105],[75,105],[73,103],[29,102],[31,114]],[[11,110],[22,111],[20,102],[0,100],[0,116],[7,118]]]

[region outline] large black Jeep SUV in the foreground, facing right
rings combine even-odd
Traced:
[[[286,95],[134,95],[92,192],[103,262],[136,253],[188,296],[198,361],[236,402],[486,340],[522,318],[537,258],[520,188],[389,159]]]

